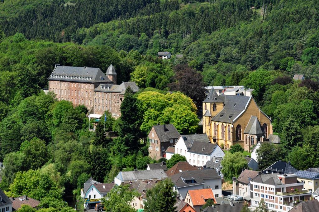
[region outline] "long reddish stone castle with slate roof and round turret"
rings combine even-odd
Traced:
[[[105,110],[117,118],[127,87],[138,91],[134,82],[116,85],[116,71],[111,64],[106,74],[99,68],[56,65],[49,76],[49,91],[58,100],[72,102],[74,106],[84,105],[90,113],[104,114]]]

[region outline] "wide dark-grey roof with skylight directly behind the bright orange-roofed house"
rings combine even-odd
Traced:
[[[183,171],[170,176],[177,188],[205,184],[204,179],[221,179],[215,169]],[[194,183],[185,183],[188,178],[194,179]]]

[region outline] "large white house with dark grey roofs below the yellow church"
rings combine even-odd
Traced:
[[[175,154],[184,155],[194,166],[204,166],[213,157],[224,157],[218,144],[210,143],[206,134],[181,135],[175,144]]]

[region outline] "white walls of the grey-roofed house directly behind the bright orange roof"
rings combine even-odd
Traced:
[[[173,187],[174,191],[177,191],[178,194],[181,195],[180,199],[185,200],[186,194],[188,190],[197,190],[197,189],[204,189],[204,188],[211,188],[215,195],[215,198],[221,197],[221,178],[219,179],[205,179],[204,184],[196,185],[196,186],[186,186],[177,188],[176,186]]]

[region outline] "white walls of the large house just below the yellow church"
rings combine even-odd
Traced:
[[[214,144],[211,144],[211,145],[214,145]],[[175,144],[175,154],[180,154],[185,156],[187,162],[193,166],[204,166],[206,165],[206,162],[210,161],[213,157],[225,156],[224,151],[218,145],[216,145],[216,147],[214,148],[214,150],[211,152],[210,155],[188,152],[188,149],[185,145],[185,142],[182,136],[179,137],[179,139],[177,140]]]

